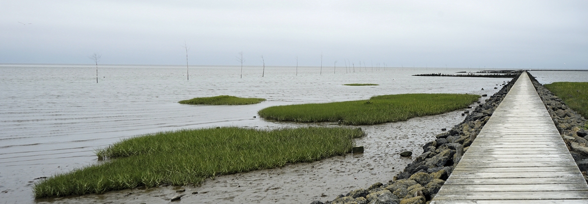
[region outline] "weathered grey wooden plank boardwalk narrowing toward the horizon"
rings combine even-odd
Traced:
[[[588,185],[526,73],[431,204],[588,203]]]

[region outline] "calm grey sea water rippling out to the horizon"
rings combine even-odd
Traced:
[[[36,178],[96,163],[95,149],[123,138],[185,128],[300,125],[265,121],[262,108],[368,99],[397,93],[486,93],[509,79],[417,77],[479,69],[265,68],[236,66],[0,65],[0,200],[33,203]],[[588,72],[532,72],[540,82]],[[379,86],[343,86],[377,83]],[[245,106],[181,105],[203,96],[266,98]]]

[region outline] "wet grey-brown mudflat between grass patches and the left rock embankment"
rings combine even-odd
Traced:
[[[487,97],[483,97],[486,99]],[[412,162],[399,153],[420,155],[422,145],[463,121],[460,111],[409,119],[404,122],[359,126],[368,135],[356,139],[364,153],[335,156],[312,163],[256,170],[207,179],[201,186],[162,186],[128,189],[103,195],[38,199],[37,203],[169,203],[176,195],[188,203],[310,203],[333,200],[357,188],[385,183]],[[296,126],[295,124],[292,124]],[[320,125],[332,125],[323,123]],[[185,192],[176,192],[185,189]],[[198,192],[198,193],[195,193]]]

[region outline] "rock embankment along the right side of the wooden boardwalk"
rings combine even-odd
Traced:
[[[588,171],[588,147],[586,147],[588,146],[588,131],[583,129],[586,119],[567,107],[562,99],[537,82],[532,75],[529,74],[529,77],[549,115],[551,115],[557,131],[562,135],[563,141],[566,142],[567,149],[569,149],[578,168],[584,175],[584,179],[588,181],[588,176],[586,176]]]

